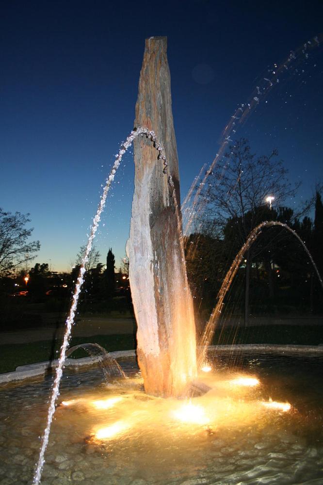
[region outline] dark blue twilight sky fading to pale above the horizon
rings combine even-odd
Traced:
[[[38,262],[69,269],[101,184],[133,127],[145,38],[167,35],[181,195],[268,67],[322,30],[323,2],[10,1],[1,11],[0,206],[30,212]],[[237,136],[277,147],[295,201],[323,180],[323,55],[272,90]],[[304,71],[304,72],[303,72]],[[133,163],[120,170],[97,246],[116,263],[129,232]],[[290,203],[294,203],[290,201]]]

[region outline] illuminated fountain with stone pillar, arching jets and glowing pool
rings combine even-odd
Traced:
[[[228,361],[221,349],[217,349],[216,360],[211,348],[208,355],[206,352],[244,251],[262,228],[280,225],[291,231],[288,226],[269,221],[250,234],[226,276],[218,304],[196,347],[165,38],[146,40],[135,125],[119,150],[93,220],[66,321],[33,483],[322,483],[322,357],[313,365],[306,356],[291,362],[286,355],[276,355],[273,360],[258,349],[252,356],[237,357],[235,363],[231,358]],[[127,374],[127,386],[106,387],[101,384],[100,371],[67,371],[63,375],[63,368],[65,357],[76,350],[67,349],[85,263],[116,169],[132,142],[135,193],[127,253],[141,373],[133,359],[126,358],[117,369],[122,378]],[[83,347],[92,353],[102,352],[96,344]],[[105,361],[112,365],[112,356],[105,356]],[[310,384],[305,365],[311,371]],[[279,381],[275,377],[278,372]],[[36,457],[35,436],[46,416],[50,387],[49,376],[42,388],[29,386],[31,400],[20,388],[8,389],[3,399],[1,412],[8,413],[13,425],[18,423],[14,437],[6,435],[6,439],[13,449],[23,447],[21,453],[14,451],[12,460],[16,466],[26,467],[17,484],[30,481],[27,469],[31,471],[30,461]],[[39,401],[37,413],[34,397]],[[18,415],[22,404],[27,418],[24,426]],[[316,411],[311,414],[313,407]],[[55,410],[57,420],[52,423]],[[10,473],[12,469],[0,478],[0,484],[12,483]]]

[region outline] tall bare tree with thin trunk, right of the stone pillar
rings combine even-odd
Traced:
[[[263,220],[264,212],[266,218],[268,215],[271,218],[273,201],[279,207],[287,197],[296,194],[300,184],[292,185],[288,181],[288,170],[277,157],[276,149],[269,155],[256,156],[245,138],[229,146],[205,184],[206,220],[211,221],[218,236],[223,236],[228,221],[232,221],[236,241],[242,246],[251,230]],[[261,207],[264,210],[259,210]],[[245,259],[244,322],[247,324],[251,250]]]

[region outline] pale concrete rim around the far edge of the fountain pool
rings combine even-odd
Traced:
[[[323,345],[255,345],[255,344],[243,344],[243,345],[210,345],[210,351],[258,351],[263,353],[282,353],[282,354],[308,354],[310,356],[322,355]],[[135,357],[135,350],[118,350],[115,352],[110,352],[109,356],[114,359],[122,357]],[[65,367],[80,368],[88,365],[93,365],[99,362],[99,357],[83,357],[81,359],[66,359]],[[49,369],[53,369],[57,366],[58,360],[38,362],[35,364],[28,364],[24,366],[18,366],[14,372],[5,372],[0,374],[0,385],[6,384],[8,382],[23,381],[25,379],[30,379],[42,374]]]

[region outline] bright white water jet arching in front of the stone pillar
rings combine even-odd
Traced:
[[[57,365],[57,368],[56,368],[54,385],[53,385],[51,397],[50,397],[50,400],[49,400],[46,428],[45,428],[44,434],[42,436],[39,458],[38,458],[38,462],[36,464],[35,474],[34,474],[34,477],[33,477],[33,484],[34,485],[38,485],[40,483],[42,470],[43,470],[43,466],[44,466],[44,463],[45,463],[44,456],[45,456],[46,448],[47,448],[47,445],[48,445],[50,426],[51,426],[53,416],[54,416],[54,413],[55,413],[55,402],[57,400],[57,397],[59,396],[59,388],[60,388],[60,382],[61,382],[61,378],[62,378],[62,374],[63,374],[64,362],[65,362],[65,358],[66,358],[66,350],[68,348],[69,339],[70,339],[71,331],[72,331],[72,325],[74,324],[75,312],[76,312],[76,309],[77,309],[78,300],[79,300],[79,296],[80,296],[80,292],[81,292],[81,287],[82,287],[82,284],[83,284],[83,281],[84,281],[84,274],[85,274],[85,271],[86,271],[85,265],[86,265],[86,263],[88,262],[88,259],[89,259],[89,254],[90,254],[91,249],[92,249],[92,243],[93,243],[93,240],[96,236],[97,227],[98,227],[98,224],[100,222],[101,213],[102,213],[102,210],[104,209],[106,198],[107,198],[110,186],[111,186],[111,184],[114,180],[116,170],[118,169],[118,167],[120,165],[120,162],[122,160],[123,155],[126,153],[129,146],[131,146],[133,140],[135,138],[137,138],[139,135],[145,135],[147,138],[150,138],[150,140],[153,142],[154,146],[156,147],[156,150],[158,151],[158,157],[157,157],[158,160],[163,161],[163,165],[164,165],[163,173],[167,174],[168,162],[167,162],[166,156],[163,153],[163,151],[164,151],[163,147],[159,143],[154,131],[149,131],[147,128],[142,128],[142,127],[138,127],[137,129],[134,129],[133,131],[131,131],[131,133],[129,134],[126,141],[121,145],[119,153],[117,154],[115,161],[113,163],[113,167],[111,169],[109,177],[106,179],[106,185],[105,185],[103,193],[101,195],[101,199],[100,199],[100,203],[99,203],[98,208],[97,208],[96,216],[93,219],[93,224],[91,226],[91,232],[90,232],[90,236],[89,236],[89,239],[88,239],[88,242],[87,242],[85,254],[84,254],[82,262],[81,262],[81,267],[80,267],[77,283],[76,283],[76,286],[75,286],[75,291],[74,291],[74,294],[73,294],[72,305],[71,305],[71,308],[70,308],[70,311],[69,311],[68,318],[67,318],[66,323],[65,323],[65,334],[64,334],[63,344],[61,346],[61,352],[60,352],[60,357],[59,357],[59,360],[58,360],[58,365]],[[174,204],[175,204],[175,208],[176,208],[176,213],[177,213],[177,216],[178,216],[178,221],[180,221],[179,212],[178,212],[178,204],[177,204],[176,194],[175,194],[175,188],[174,188],[174,183],[173,183],[171,176],[169,176],[168,182],[169,182],[170,187],[172,188],[172,196],[174,197]],[[178,228],[179,227],[180,227],[180,222],[178,222]],[[180,236],[181,249],[182,249],[182,261],[183,261],[183,264],[184,264],[184,247],[183,247],[183,244],[182,244],[183,238],[182,238],[182,235],[181,235],[181,231],[179,233],[179,236]],[[185,272],[185,274],[186,274],[186,272]],[[186,286],[188,288],[188,284]]]

